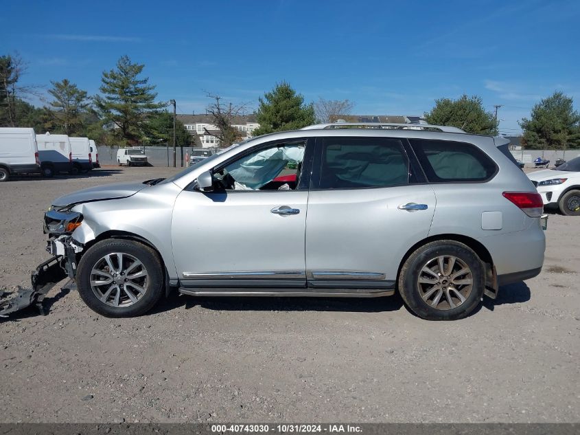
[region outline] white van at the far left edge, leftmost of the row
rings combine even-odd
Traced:
[[[39,172],[34,129],[0,128],[0,181],[8,180],[10,175]]]

